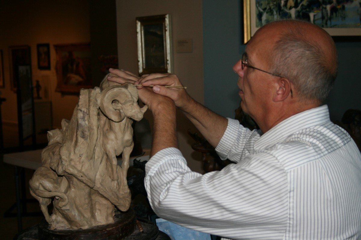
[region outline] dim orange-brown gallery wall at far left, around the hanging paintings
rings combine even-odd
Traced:
[[[10,91],[9,46],[31,47],[32,80],[39,80],[48,89],[52,101],[53,127],[61,119],[70,119],[78,102],[77,95],[61,95],[56,88],[56,55],[54,44],[90,42],[88,0],[5,1],[0,6],[0,49],[3,50],[5,89],[0,89],[3,121],[17,123],[16,94]],[[51,70],[39,70],[36,44],[49,43]],[[34,84],[35,85],[35,84]],[[41,117],[41,116],[36,116]]]

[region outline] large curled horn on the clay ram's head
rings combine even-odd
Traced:
[[[125,118],[122,103],[133,100],[130,92],[120,85],[111,86],[101,92],[100,109],[106,117],[114,122],[121,122]]]

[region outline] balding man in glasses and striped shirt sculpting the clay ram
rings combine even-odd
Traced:
[[[249,131],[193,100],[173,74],[136,77],[154,117],[145,186],[158,216],[230,239],[360,239],[361,155],[330,122],[327,97],[337,72],[332,38],[313,24],[287,20],[260,28],[233,69]],[[146,86],[156,85],[151,88]],[[175,108],[230,164],[192,172],[177,149]]]

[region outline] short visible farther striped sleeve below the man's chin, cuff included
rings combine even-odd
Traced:
[[[253,150],[253,145],[261,136],[261,131],[251,131],[237,120],[227,119],[228,126],[216,147],[216,152],[222,160],[228,158],[233,162],[239,162]]]

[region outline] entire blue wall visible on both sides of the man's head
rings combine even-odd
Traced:
[[[241,58],[240,0],[203,1],[204,103],[214,112],[234,117],[240,98],[232,66]],[[361,109],[361,42],[336,42],[339,74],[326,103],[332,120],[345,110]]]

